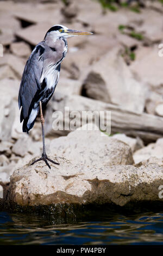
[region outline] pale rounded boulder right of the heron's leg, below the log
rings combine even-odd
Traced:
[[[93,166],[133,164],[131,149],[126,143],[103,136],[101,131],[94,128],[76,130],[66,137],[53,139],[50,152],[53,156],[65,157],[76,164]]]

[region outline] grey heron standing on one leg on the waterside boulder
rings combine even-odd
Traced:
[[[62,25],[51,27],[43,41],[39,42],[30,54],[24,67],[20,90],[18,94],[18,105],[21,108],[20,121],[23,121],[23,132],[29,132],[34,126],[37,114],[41,115],[42,126],[42,156],[35,160],[45,161],[51,169],[49,159],[45,150],[44,119],[42,110],[45,109],[51,99],[59,80],[60,65],[67,53],[67,38],[77,35],[90,35],[90,32],[75,31]],[[48,160],[48,161],[47,161]]]

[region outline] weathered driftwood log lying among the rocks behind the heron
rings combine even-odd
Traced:
[[[52,129],[54,111],[64,113],[65,107],[69,111],[111,111],[111,133],[125,133],[131,137],[143,139],[145,143],[154,142],[156,139],[163,137],[163,118],[147,113],[135,113],[124,109],[122,106],[105,103],[102,101],[92,100],[87,97],[78,95],[65,96],[56,93],[51,103],[49,103],[46,111],[47,130],[46,133],[59,133],[66,135],[70,131],[55,131]],[[70,122],[70,119],[65,118],[64,123]],[[81,122],[82,123],[82,122]],[[80,120],[77,121],[77,126],[80,126]]]

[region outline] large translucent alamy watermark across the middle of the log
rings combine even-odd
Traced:
[[[101,130],[110,135],[111,111],[70,111],[65,107],[64,111],[55,111],[52,128],[60,131],[78,130]]]

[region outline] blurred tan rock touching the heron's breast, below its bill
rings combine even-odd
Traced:
[[[89,31],[89,29],[87,30]],[[101,59],[106,52],[112,51],[114,47],[122,48],[114,38],[106,38],[106,36],[102,35],[87,36],[85,41],[82,38],[78,37],[77,40],[76,38],[68,40],[70,51],[62,62],[62,68],[70,72],[71,78],[76,80],[83,80],[85,78],[84,75],[86,76],[89,72],[91,65]],[[103,41],[103,47],[99,47],[101,41]],[[71,51],[71,46],[76,46],[76,51]]]

